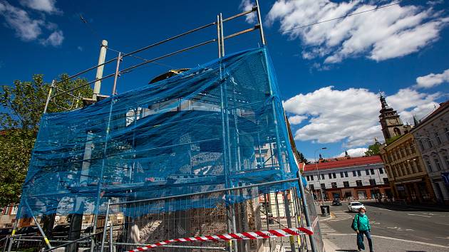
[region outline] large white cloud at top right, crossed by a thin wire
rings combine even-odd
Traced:
[[[413,5],[388,6],[346,16],[376,7],[361,0],[340,3],[330,0],[278,0],[269,11],[267,23],[271,25],[279,21],[280,30],[285,35],[291,39],[301,39],[304,58],[324,58],[324,63],[339,63],[345,58],[357,56],[366,56],[374,61],[406,56],[437,40],[440,31],[449,22],[438,11]],[[346,17],[293,29],[341,16]]]

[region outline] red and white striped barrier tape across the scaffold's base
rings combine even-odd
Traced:
[[[254,231],[254,232],[243,232],[243,233],[224,233],[215,236],[196,236],[189,238],[177,238],[167,241],[160,241],[158,243],[149,244],[140,248],[135,248],[128,252],[138,252],[145,251],[149,248],[156,248],[159,246],[164,246],[169,243],[174,242],[185,242],[185,241],[231,241],[231,240],[254,240],[254,239],[264,239],[264,238],[276,238],[276,237],[287,237],[287,236],[299,236],[301,234],[311,235],[314,234],[311,228],[291,228],[291,229],[273,229],[267,231]]]

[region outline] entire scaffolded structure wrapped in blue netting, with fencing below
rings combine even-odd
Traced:
[[[226,33],[227,22],[249,14],[256,25]],[[103,41],[98,64],[68,77],[95,71],[95,79],[70,90],[53,80],[2,251],[323,251],[259,4],[210,21],[109,60]],[[202,30],[210,40],[123,67],[128,56]],[[254,48],[225,53],[229,39],[253,32]],[[130,70],[206,45],[217,48],[215,60],[118,93]],[[115,71],[103,74],[105,65]],[[87,85],[93,97],[79,97]],[[47,112],[60,95],[73,106]],[[37,234],[16,233],[27,226]]]

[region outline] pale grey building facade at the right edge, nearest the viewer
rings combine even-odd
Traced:
[[[449,204],[449,101],[411,131],[438,202]]]

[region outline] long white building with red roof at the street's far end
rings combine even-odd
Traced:
[[[382,159],[377,155],[307,164],[302,175],[319,200],[321,190],[324,200],[393,196]]]

